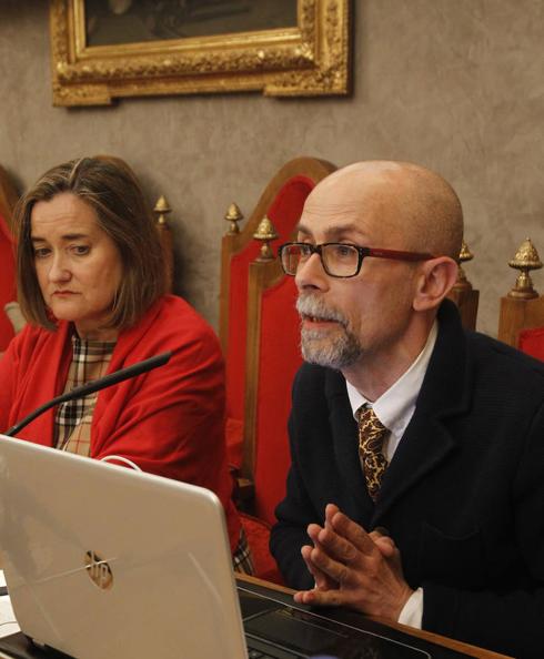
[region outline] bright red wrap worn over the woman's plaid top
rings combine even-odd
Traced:
[[[27,326],[0,359],[0,432],[64,389],[71,362],[70,323],[57,332]],[[226,511],[231,549],[240,521],[231,501],[224,446],[224,374],[213,330],[180,297],[159,300],[122,332],[109,373],[165,351],[170,362],[99,393],[91,457],[119,455],[144,472],[213,490]],[[52,446],[54,408],[19,433]],[[183,520],[180,519],[180,524]]]

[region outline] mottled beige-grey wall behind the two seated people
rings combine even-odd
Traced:
[[[21,187],[50,165],[108,152],[174,209],[177,286],[218,320],[222,215],[249,215],[295,155],[412,160],[457,190],[478,327],[496,333],[506,265],[526,236],[544,257],[542,0],[355,0],[354,93],[123,100],[52,108],[46,0],[0,2],[0,162]],[[544,290],[544,275],[535,283]]]

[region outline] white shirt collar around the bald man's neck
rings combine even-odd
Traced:
[[[439,324],[435,321],[423,349],[410,368],[374,403],[362,396],[347,381],[345,383],[353,416],[355,417],[355,413],[361,405],[371,405],[377,418],[391,432],[395,448],[414,414],[415,402],[425,377],[437,334]]]

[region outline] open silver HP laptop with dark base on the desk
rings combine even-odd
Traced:
[[[21,631],[78,659],[431,657],[419,639],[236,590],[210,490],[3,435],[0,549]],[[9,638],[1,649],[21,647]]]

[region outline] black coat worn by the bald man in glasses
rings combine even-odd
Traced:
[[[343,376],[304,364],[293,385],[292,466],[271,549],[312,587],[300,548],[336,504],[389,529],[424,589],[423,628],[516,657],[544,652],[544,364],[463,331],[450,302],[415,413],[374,505]]]

